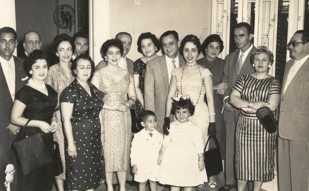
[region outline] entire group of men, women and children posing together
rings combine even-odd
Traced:
[[[103,60],[95,66],[85,54],[87,35],[61,34],[53,41],[58,60],[51,65],[37,32],[24,35],[23,60],[12,56],[14,29],[1,28],[0,168],[18,167],[11,149],[17,133],[38,131],[50,154],[58,142],[63,166],[57,175],[53,163],[27,175],[19,172],[11,188],[49,191],[55,178],[59,191],[66,190],[65,181],[69,190],[93,191],[103,158],[108,191],[115,172],[120,191],[132,180],[140,191],[148,181],[152,191],[164,185],[193,191],[204,182],[216,188],[216,176],[207,177],[204,164],[206,142],[216,136],[226,176],[220,191],[244,191],[248,181],[259,191],[274,179],[277,147],[279,190],[307,190],[309,32],[297,31],[288,43],[292,59],[282,85],[268,74],[273,53],[252,45],[250,25],[238,23],[233,36],[237,50],[223,60],[224,42],[217,34],[201,43],[195,35],[180,42],[176,31],[159,39],[142,33],[137,45],[143,57],[133,62],[127,58],[132,36],[120,32],[103,43]],[[157,56],[160,49],[163,55]],[[198,60],[201,52],[204,58]],[[268,132],[258,120],[262,107],[278,116],[277,131]],[[130,110],[138,112],[144,127],[135,134]],[[210,141],[206,150],[213,147]]]

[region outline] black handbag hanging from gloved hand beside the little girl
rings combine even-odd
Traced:
[[[209,140],[213,138],[216,144],[216,148],[208,149],[205,151]],[[217,140],[217,137],[209,137],[206,146],[204,148],[204,162],[205,162],[205,169],[208,177],[217,175],[218,173],[223,171],[222,165],[222,157],[220,153],[220,146]]]

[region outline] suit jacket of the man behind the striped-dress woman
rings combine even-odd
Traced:
[[[254,50],[255,50],[255,47],[253,46],[253,48],[250,50],[248,56],[243,62],[238,78],[242,76],[243,74],[252,74],[255,72],[254,67],[252,67],[250,63],[250,55]],[[225,92],[225,94],[223,94],[223,98],[230,95],[232,91],[232,87],[234,86],[234,84],[236,83],[238,79],[236,77],[236,68],[238,64],[239,52],[240,52],[240,49],[237,49],[236,51],[232,52],[226,57],[222,82],[228,83],[229,87],[227,91]],[[234,118],[234,112],[229,112],[227,110],[224,110],[223,119],[225,122],[230,122],[231,120],[233,120],[233,118]]]

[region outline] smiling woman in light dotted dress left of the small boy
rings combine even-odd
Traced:
[[[123,54],[120,40],[111,39],[104,42],[101,53],[107,65],[94,72],[91,83],[104,93],[105,104],[117,105],[117,111],[101,111],[107,191],[113,191],[113,172],[117,172],[119,191],[125,191],[130,166],[130,108],[136,100],[134,81],[129,71],[118,66]]]

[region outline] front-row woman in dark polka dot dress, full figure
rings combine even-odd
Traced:
[[[100,185],[99,113],[103,107],[103,96],[87,81],[94,70],[89,56],[78,56],[71,70],[76,79],[60,96],[66,135],[66,181],[69,190],[93,191]],[[113,109],[108,105],[104,108]]]

